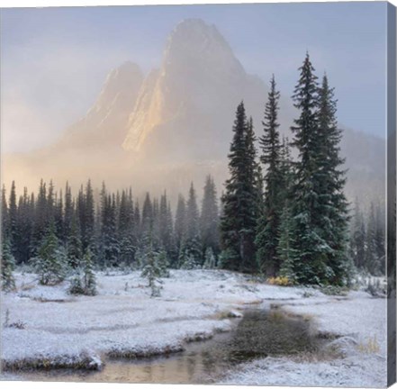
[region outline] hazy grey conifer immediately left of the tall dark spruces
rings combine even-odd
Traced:
[[[212,176],[207,176],[204,186],[200,230],[203,242],[203,252],[212,249],[219,252],[219,209],[216,188]]]

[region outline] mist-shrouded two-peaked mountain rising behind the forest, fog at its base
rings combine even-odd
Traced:
[[[42,177],[77,187],[91,177],[96,186],[104,180],[115,188],[131,185],[136,195],[167,189],[176,197],[192,180],[201,187],[211,173],[221,192],[237,104],[244,100],[259,136],[266,83],[246,73],[215,26],[185,20],[170,33],[158,69],[146,77],[132,62],[114,69],[93,107],[58,142],[4,157],[3,181],[32,189]],[[295,112],[290,96],[281,95],[280,131],[291,138]],[[342,141],[347,195],[380,198],[384,140],[357,130],[346,129]]]

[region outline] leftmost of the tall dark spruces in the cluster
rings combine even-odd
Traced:
[[[221,267],[253,272],[257,228],[257,161],[252,126],[244,104],[237,108],[230,144],[229,171],[222,195]]]

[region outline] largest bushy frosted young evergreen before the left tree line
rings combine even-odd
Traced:
[[[66,264],[66,253],[59,246],[55,234],[55,225],[52,222],[50,229],[37,250],[37,257],[32,258],[32,266],[39,276],[41,285],[56,285],[63,281]]]

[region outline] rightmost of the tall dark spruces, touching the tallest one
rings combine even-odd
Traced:
[[[346,170],[345,158],[340,157],[342,131],[337,122],[337,101],[334,89],[329,87],[324,75],[319,89],[318,152],[320,190],[317,198],[322,238],[329,246],[327,281],[333,285],[344,285],[350,276],[352,262],[348,256],[348,203],[344,194]]]

